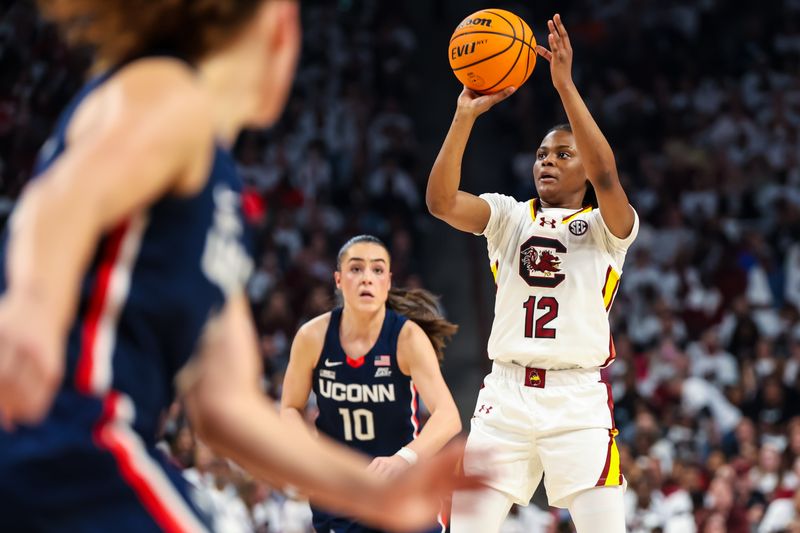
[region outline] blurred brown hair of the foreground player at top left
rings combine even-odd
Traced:
[[[224,46],[265,0],[37,0],[70,44],[103,68],[150,50],[189,61]]]

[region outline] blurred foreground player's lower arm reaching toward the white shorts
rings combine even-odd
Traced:
[[[260,390],[256,333],[244,295],[226,305],[202,342],[198,359],[181,371],[178,389],[186,395],[201,438],[252,474],[291,484],[333,512],[397,530],[423,529],[433,523],[440,498],[455,488],[478,485],[449,470],[457,450],[390,483],[367,471],[365,457],[283,423]]]

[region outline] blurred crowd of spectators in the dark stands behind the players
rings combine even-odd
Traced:
[[[7,214],[88,61],[30,3],[0,6]],[[576,81],[641,221],[606,371],[630,531],[800,532],[800,2],[569,6]],[[384,238],[399,285],[422,274],[417,36],[401,7],[377,0],[311,3],[304,24],[284,118],[235,147],[259,230],[248,290],[275,398],[297,326],[333,303],[346,237]],[[518,142],[505,192],[530,196],[535,148],[563,120],[557,109],[555,95],[531,87],[500,109],[499,131]],[[302,501],[215,457],[177,406],[164,446],[232,531],[307,530]],[[504,531],[568,528],[564,513],[530,506]]]

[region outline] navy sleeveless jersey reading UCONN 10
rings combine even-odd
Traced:
[[[375,345],[352,359],[339,339],[341,317],[341,308],[331,312],[314,368],[317,428],[366,454],[393,455],[419,433],[417,390],[397,366],[397,338],[406,318],[387,308]]]

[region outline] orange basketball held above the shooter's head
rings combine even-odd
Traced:
[[[524,20],[503,9],[482,9],[461,21],[449,48],[450,68],[473,91],[519,88],[536,65],[536,39]]]

